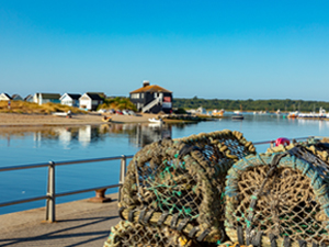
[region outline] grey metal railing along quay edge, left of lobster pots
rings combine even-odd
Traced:
[[[121,187],[124,182],[124,179],[125,179],[127,159],[131,159],[133,157],[134,157],[133,155],[127,155],[127,156],[122,155],[122,156],[116,156],[116,157],[105,157],[105,158],[97,158],[97,159],[80,159],[80,160],[59,161],[59,162],[49,161],[49,162],[44,162],[44,164],[1,167],[0,172],[48,167],[48,178],[47,178],[47,193],[46,193],[46,195],[41,195],[41,197],[35,197],[35,198],[29,198],[29,199],[23,199],[23,200],[16,200],[16,201],[11,201],[11,202],[0,203],[0,207],[1,206],[20,204],[20,203],[46,200],[46,221],[55,222],[56,221],[56,207],[55,207],[56,198],[71,195],[71,194],[78,194],[78,193],[84,193],[84,192],[90,192],[90,191],[95,191],[95,190],[101,190],[101,189],[110,189],[110,188]],[[97,188],[89,188],[89,189],[83,189],[83,190],[75,190],[75,191],[69,191],[69,192],[64,192],[64,193],[56,193],[56,191],[55,191],[55,167],[64,166],[64,165],[100,162],[100,161],[110,161],[110,160],[118,160],[118,159],[121,160],[118,183],[110,184],[110,186],[103,186],[103,187],[97,187]],[[121,190],[118,190],[118,200],[120,199],[121,199]]]

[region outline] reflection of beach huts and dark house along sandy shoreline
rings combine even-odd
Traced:
[[[88,147],[92,143],[105,142],[113,135],[128,137],[129,144],[135,147],[144,147],[147,144],[161,138],[171,138],[172,125],[158,124],[102,124],[83,126],[56,126],[56,127],[5,127],[0,128],[0,139],[7,139],[10,146],[11,139],[33,137],[34,145],[59,143],[65,149],[72,144]]]

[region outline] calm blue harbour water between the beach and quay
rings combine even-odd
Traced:
[[[52,128],[1,128],[0,167],[46,162],[49,160],[76,160],[118,155],[133,155],[146,144],[162,136],[172,138],[201,132],[220,130],[240,131],[248,141],[261,142],[277,137],[329,136],[329,121],[288,120],[276,115],[245,115],[243,121],[222,119],[188,125],[168,125],[159,128],[151,124],[104,124],[100,126]],[[257,146],[265,151],[268,145]],[[65,192],[116,183],[120,161],[60,166],[56,168],[56,191]],[[0,172],[0,202],[44,195],[46,168]],[[114,192],[112,190],[110,192]],[[91,198],[84,193],[58,198],[67,202]],[[44,206],[45,202],[32,202],[0,207],[0,214]]]

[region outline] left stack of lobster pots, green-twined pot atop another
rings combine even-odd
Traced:
[[[121,189],[110,246],[217,246],[224,228],[225,177],[252,143],[231,131],[162,139],[139,150]]]

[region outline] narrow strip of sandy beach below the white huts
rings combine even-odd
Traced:
[[[147,123],[148,119],[156,114],[134,115],[107,115],[112,123]],[[102,114],[75,114],[71,117],[42,115],[42,114],[16,114],[0,113],[0,127],[9,126],[53,126],[53,125],[83,125],[104,124]]]

